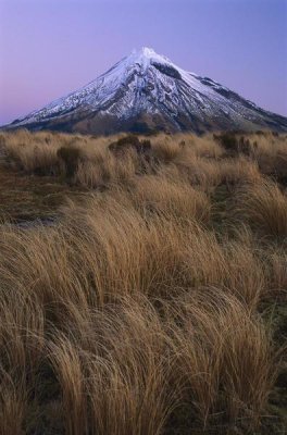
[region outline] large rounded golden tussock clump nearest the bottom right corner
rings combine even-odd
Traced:
[[[195,408],[205,428],[216,417],[255,426],[276,377],[263,324],[219,288],[186,294],[172,310],[169,319],[179,326],[172,322],[170,334],[189,412]]]

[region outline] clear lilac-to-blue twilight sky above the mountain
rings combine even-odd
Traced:
[[[144,46],[287,115],[287,0],[0,0],[0,125]]]

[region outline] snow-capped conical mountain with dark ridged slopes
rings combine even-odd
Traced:
[[[87,86],[5,128],[91,134],[167,130],[287,130],[287,117],[260,109],[150,48],[134,51]]]

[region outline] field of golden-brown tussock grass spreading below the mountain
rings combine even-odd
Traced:
[[[287,144],[241,136],[1,135],[67,199],[0,225],[0,434],[284,433]]]

